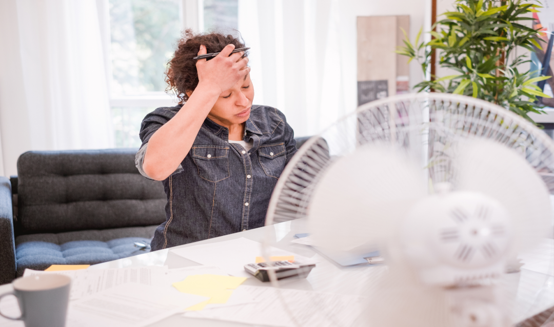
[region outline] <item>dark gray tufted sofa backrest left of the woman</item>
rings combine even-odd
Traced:
[[[159,181],[135,167],[136,149],[31,151],[20,155],[18,220],[25,233],[157,225]]]

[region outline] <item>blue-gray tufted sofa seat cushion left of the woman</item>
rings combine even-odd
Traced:
[[[149,252],[135,247],[134,242],[150,243],[156,227],[18,236],[17,276],[22,276],[25,268],[44,270],[52,264],[95,264]]]

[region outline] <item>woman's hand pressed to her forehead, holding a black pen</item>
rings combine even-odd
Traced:
[[[198,85],[214,87],[221,93],[230,89],[239,79],[243,79],[250,71],[248,57],[242,58],[242,51],[231,54],[234,49],[233,44],[228,44],[213,59],[199,59],[196,62]],[[206,54],[206,46],[201,45],[198,55],[203,54]]]

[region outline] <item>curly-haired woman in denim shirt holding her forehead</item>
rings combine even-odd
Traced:
[[[263,226],[296,152],[283,113],[252,105],[248,54],[231,54],[244,44],[232,35],[185,33],[166,72],[181,102],[144,118],[136,157],[139,171],[162,180],[167,194],[152,251]]]

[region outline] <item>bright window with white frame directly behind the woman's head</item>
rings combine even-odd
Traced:
[[[184,27],[233,33],[238,0],[109,0],[109,14],[106,61],[116,147],[140,147],[146,114],[177,103],[165,92],[164,72]],[[186,23],[183,15],[197,19]]]

